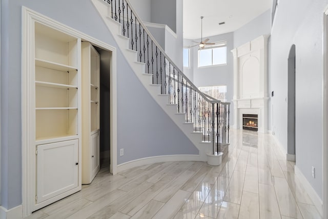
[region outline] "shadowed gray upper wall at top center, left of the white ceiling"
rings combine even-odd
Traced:
[[[176,0],[151,0],[151,23],[166,24],[176,33],[176,16]]]

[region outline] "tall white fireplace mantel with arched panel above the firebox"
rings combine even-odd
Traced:
[[[258,114],[258,132],[268,131],[267,44],[268,36],[262,35],[231,50],[236,129],[242,129],[242,114]]]

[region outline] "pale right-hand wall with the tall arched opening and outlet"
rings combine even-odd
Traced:
[[[271,32],[273,131],[287,151],[288,56],[296,46],[296,166],[322,199],[323,11],[326,0],[279,1]],[[316,176],[312,177],[312,166]]]

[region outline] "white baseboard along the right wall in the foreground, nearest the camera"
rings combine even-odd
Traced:
[[[298,177],[300,183],[302,184],[302,186],[304,187],[306,192],[308,192],[309,196],[311,197],[311,200],[312,200],[313,204],[316,206],[318,212],[322,216],[322,200],[319,197],[319,195],[317,194],[317,192],[313,189],[313,187],[311,186],[309,181],[306,180],[305,176],[298,169],[297,166],[295,166],[295,176]]]

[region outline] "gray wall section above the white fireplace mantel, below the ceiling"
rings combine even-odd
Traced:
[[[270,35],[271,9],[265,11],[234,32],[234,48],[252,41],[260,35]]]

